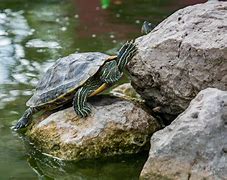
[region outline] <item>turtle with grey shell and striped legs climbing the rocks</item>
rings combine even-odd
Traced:
[[[83,52],[58,59],[38,81],[33,96],[26,103],[27,110],[13,128],[25,128],[32,121],[33,114],[60,108],[70,101],[79,117],[87,117],[92,111],[87,98],[117,82],[136,53],[137,46],[131,40],[114,56]]]

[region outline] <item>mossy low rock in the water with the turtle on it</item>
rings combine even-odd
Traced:
[[[144,150],[160,127],[140,105],[108,96],[90,99],[91,116],[79,118],[73,108],[34,121],[26,132],[41,152],[64,160],[81,160]]]

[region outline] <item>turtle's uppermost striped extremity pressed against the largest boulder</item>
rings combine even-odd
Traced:
[[[127,41],[119,50],[117,55],[117,65],[119,70],[122,72],[126,64],[133,58],[137,53],[137,46],[134,40]]]

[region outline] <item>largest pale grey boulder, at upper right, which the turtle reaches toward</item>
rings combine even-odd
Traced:
[[[173,120],[207,87],[227,90],[227,2],[181,9],[139,37],[132,85],[151,109]]]

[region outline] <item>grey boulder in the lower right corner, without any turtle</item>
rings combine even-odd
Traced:
[[[141,179],[227,179],[227,91],[201,91],[153,134]]]

